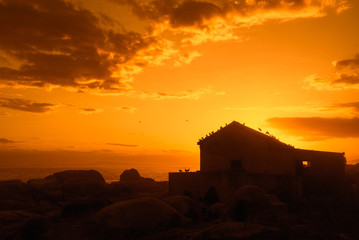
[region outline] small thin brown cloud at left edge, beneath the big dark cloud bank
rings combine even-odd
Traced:
[[[20,98],[0,98],[0,107],[25,112],[45,113],[53,110],[55,106],[56,105],[52,103],[36,103]]]

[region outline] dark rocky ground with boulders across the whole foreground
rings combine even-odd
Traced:
[[[169,196],[135,169],[112,183],[95,170],[0,181],[0,239],[359,239],[356,191],[287,204],[247,185],[209,200]]]

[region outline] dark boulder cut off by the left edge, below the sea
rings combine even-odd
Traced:
[[[25,183],[20,180],[0,181],[0,210],[31,207],[33,200]]]

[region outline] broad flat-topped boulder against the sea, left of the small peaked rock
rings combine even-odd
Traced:
[[[66,170],[53,177],[61,183],[65,197],[94,197],[106,186],[105,179],[95,170]]]

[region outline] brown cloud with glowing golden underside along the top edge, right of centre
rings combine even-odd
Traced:
[[[165,29],[185,34],[184,42],[194,45],[206,41],[238,40],[236,29],[271,19],[322,17],[329,8],[338,13],[348,8],[346,0],[112,1],[129,4],[139,18],[152,22],[154,31]]]

